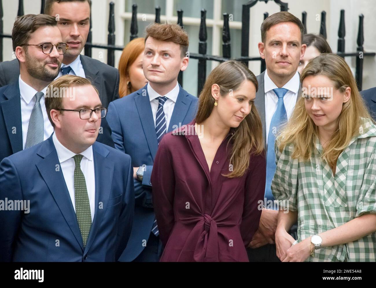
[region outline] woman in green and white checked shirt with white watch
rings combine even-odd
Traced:
[[[271,189],[279,203],[288,203],[278,214],[277,256],[374,262],[376,125],[343,58],[321,54],[300,80],[302,97],[276,140]],[[296,220],[292,245],[287,231]]]

